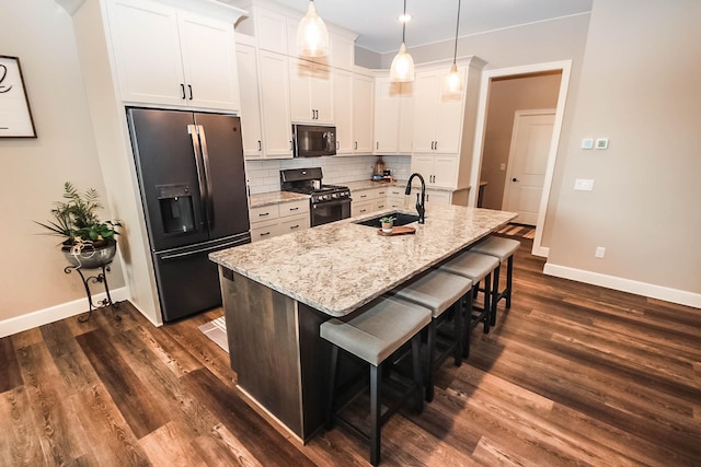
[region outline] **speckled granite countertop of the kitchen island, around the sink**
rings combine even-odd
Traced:
[[[399,236],[353,223],[382,212],[392,210],[223,249],[209,259],[331,316],[345,316],[517,215],[432,206],[425,224],[409,224],[415,234]]]

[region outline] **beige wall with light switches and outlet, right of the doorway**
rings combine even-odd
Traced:
[[[700,306],[700,23],[697,0],[594,2],[549,266],[690,292]],[[587,137],[609,149],[581,150]],[[575,178],[594,191],[574,191]]]

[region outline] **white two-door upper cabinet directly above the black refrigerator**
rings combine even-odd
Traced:
[[[123,101],[240,109],[231,22],[150,0],[107,5]]]

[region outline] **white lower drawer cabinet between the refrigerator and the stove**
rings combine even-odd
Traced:
[[[302,231],[311,225],[307,199],[251,208],[249,215],[251,242]]]

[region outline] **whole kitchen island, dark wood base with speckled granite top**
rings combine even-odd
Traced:
[[[363,313],[515,217],[436,206],[425,224],[409,224],[413,235],[379,235],[355,223],[365,215],[210,254],[219,265],[231,367],[242,395],[309,440],[322,424],[326,397],[329,346],[319,326]]]

